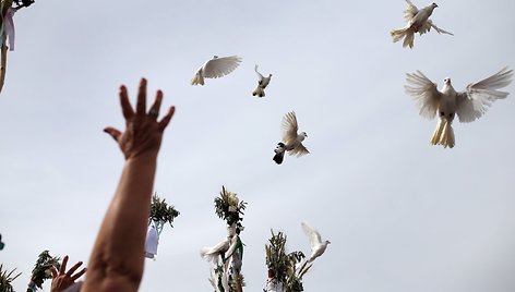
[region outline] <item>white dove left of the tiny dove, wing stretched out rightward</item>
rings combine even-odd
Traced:
[[[191,80],[191,85],[204,85],[204,78],[223,77],[240,65],[241,58],[238,56],[221,57],[214,56],[205,62]]]

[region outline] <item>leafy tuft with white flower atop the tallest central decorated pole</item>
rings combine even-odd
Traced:
[[[236,223],[237,232],[243,229],[241,221],[243,218],[240,215],[244,215],[243,210],[245,209],[247,203],[239,202],[238,195],[236,193],[229,192],[221,186],[221,192],[219,197],[215,197],[215,211],[219,218],[227,221],[228,226]]]

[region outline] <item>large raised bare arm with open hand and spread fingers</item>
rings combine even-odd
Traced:
[[[146,112],[146,80],[142,78],[134,111],[127,88],[120,87],[125,131],[104,131],[120,146],[125,165],[93,247],[82,291],[137,291],[140,287],[157,153],[175,112],[175,107],[170,107],[157,121],[161,99],[158,90]]]

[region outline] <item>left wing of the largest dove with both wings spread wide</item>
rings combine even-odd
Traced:
[[[405,85],[406,94],[414,97],[417,107],[420,109],[419,114],[426,119],[433,119],[436,115],[439,102],[442,94],[438,90],[436,84],[431,82],[422,72],[418,71],[412,74],[406,74]]]

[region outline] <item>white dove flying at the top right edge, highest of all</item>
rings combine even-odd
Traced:
[[[404,19],[408,22],[404,28],[392,31],[390,34],[392,35],[394,42],[399,41],[404,38],[403,47],[409,46],[409,48],[414,47],[415,34],[419,33],[423,35],[431,31],[431,27],[436,31],[439,34],[447,34],[454,36],[452,33],[446,32],[442,28],[439,28],[436,25],[433,24],[429,16],[433,13],[433,10],[438,8],[436,3],[432,3],[421,10],[418,10],[411,1],[406,0],[407,7],[404,11]]]

